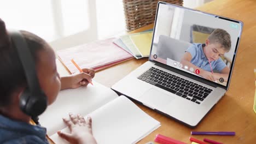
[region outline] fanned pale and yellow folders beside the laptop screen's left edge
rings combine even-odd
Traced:
[[[122,35],[119,39],[114,40],[113,43],[139,59],[149,56],[152,37],[153,31],[133,33]]]

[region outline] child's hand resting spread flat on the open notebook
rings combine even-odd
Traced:
[[[68,126],[71,134],[58,131],[57,134],[62,139],[67,140],[70,143],[97,143],[92,136],[91,118],[88,118],[88,122],[85,121],[81,115],[73,115],[69,113],[69,119],[63,118],[63,121]]]

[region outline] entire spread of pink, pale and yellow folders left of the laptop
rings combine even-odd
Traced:
[[[74,59],[80,68],[97,71],[133,57],[137,59],[148,57],[152,37],[153,31],[122,35],[120,38],[98,40],[60,50],[57,51],[57,55],[70,73],[77,71],[71,59]]]

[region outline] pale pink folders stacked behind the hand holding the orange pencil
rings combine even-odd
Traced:
[[[72,74],[77,71],[77,68],[71,62],[71,59],[74,59],[80,68],[91,68],[97,71],[133,58],[130,53],[115,45],[113,43],[114,39],[116,38],[98,40],[60,50],[57,51],[57,55],[62,64]]]

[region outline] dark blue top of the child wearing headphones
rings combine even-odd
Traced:
[[[14,121],[0,114],[0,143],[48,143],[46,128]]]

